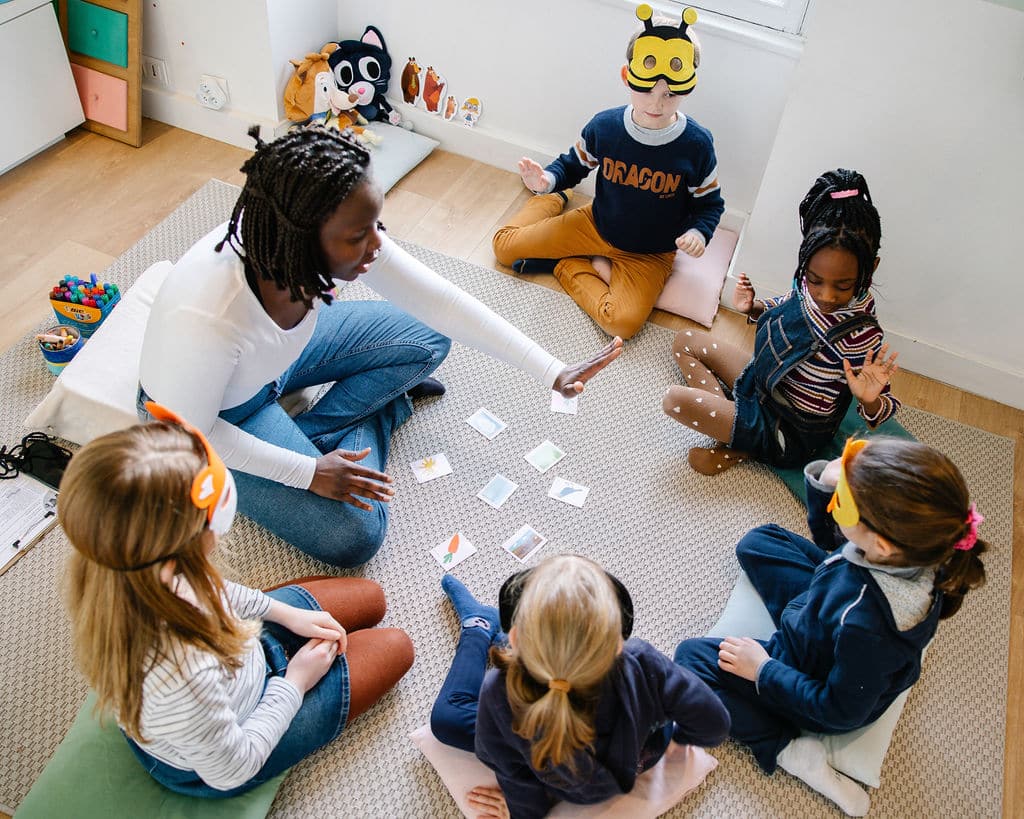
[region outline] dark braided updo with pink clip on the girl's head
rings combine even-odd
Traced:
[[[815,253],[842,248],[857,259],[857,296],[867,293],[882,243],[882,222],[863,176],[838,168],[815,179],[800,203],[800,232],[804,239],[793,275],[795,286],[807,274]]]

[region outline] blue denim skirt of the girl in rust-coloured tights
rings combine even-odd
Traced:
[[[274,600],[296,608],[310,611],[318,611],[321,608],[313,596],[300,586],[286,586],[267,594]],[[305,645],[307,640],[308,638],[297,637],[276,623],[264,622],[260,643],[266,656],[266,679],[284,677],[288,658]],[[218,790],[200,779],[195,771],[183,771],[161,762],[131,739],[128,739],[128,744],[148,774],[176,793],[206,799],[237,796],[273,779],[335,739],[348,722],[348,661],[344,654],[340,654],[330,671],[306,692],[299,713],[292,719],[291,725],[270,751],[263,767],[248,782],[230,790]]]

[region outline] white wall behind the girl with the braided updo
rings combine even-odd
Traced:
[[[1024,13],[983,0],[814,5],[737,266],[788,288],[797,205],[861,171],[879,315],[903,367],[1024,407]]]

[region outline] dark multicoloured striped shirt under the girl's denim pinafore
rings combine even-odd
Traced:
[[[848,358],[854,370],[857,370],[864,363],[864,356],[868,352],[877,353],[879,351],[882,346],[883,334],[879,327],[866,327],[844,336],[835,344],[825,343],[826,334],[840,321],[856,313],[874,315],[874,297],[868,293],[862,299],[857,299],[842,310],[823,313],[817,308],[814,299],[807,292],[806,285],[802,284],[801,287],[803,288],[804,306],[811,321],[811,330],[821,342],[821,346],[817,353],[795,367],[782,379],[779,389],[798,410],[811,415],[826,416],[835,410],[836,402],[846,384],[843,359]],[[796,298],[795,291],[791,290],[784,296],[762,299],[762,301],[765,304],[765,309],[770,310],[790,298]],[[879,401],[882,405],[873,416],[868,416],[864,412],[863,405],[857,404],[857,413],[871,427],[892,418],[901,405],[899,399],[890,393],[888,384],[879,395]]]

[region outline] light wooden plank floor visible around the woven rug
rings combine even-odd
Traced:
[[[245,150],[150,120],[142,138],[133,148],[74,131],[0,175],[0,351],[49,313],[44,294],[61,275],[98,272],[211,177],[244,180],[239,168],[249,156]],[[517,175],[438,150],[391,190],[383,219],[395,238],[507,271],[495,261],[490,236],[526,197]],[[559,289],[551,276],[537,281]],[[673,329],[691,326],[666,313],[653,320]],[[753,341],[752,330],[727,310],[713,332],[732,342]],[[1018,741],[1024,736],[1024,412],[910,373],[897,374],[894,391],[907,405],[1017,443],[1002,811],[1012,817],[1024,811],[1024,743]],[[4,431],[0,443],[10,443],[14,434]]]

